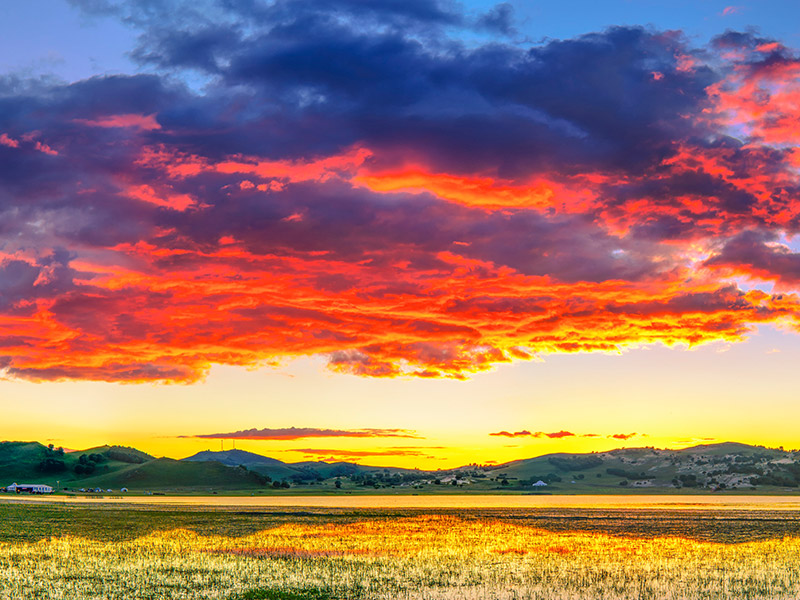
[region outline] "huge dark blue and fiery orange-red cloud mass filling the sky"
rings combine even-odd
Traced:
[[[139,28],[142,73],[0,76],[6,376],[313,354],[462,378],[798,327],[800,59],[775,40],[520,46],[508,6],[429,0],[73,3]]]

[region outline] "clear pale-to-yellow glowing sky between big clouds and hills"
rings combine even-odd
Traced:
[[[800,447],[794,427],[800,418],[798,359],[796,336],[767,328],[724,353],[646,347],[619,356],[548,356],[466,382],[335,374],[321,359],[257,371],[219,367],[194,385],[5,380],[0,381],[0,439],[73,449],[119,444],[184,458],[223,447],[219,440],[192,437],[197,435],[251,428],[397,428],[415,431],[420,439],[237,440],[236,447],[285,462],[336,458],[421,469],[712,441],[790,449]],[[576,435],[489,435],[523,430]],[[634,432],[629,440],[609,437]],[[581,437],[589,434],[596,437]],[[393,449],[418,454],[387,454]]]

